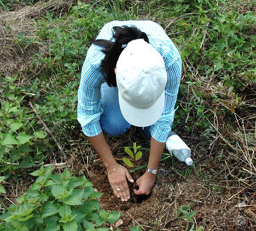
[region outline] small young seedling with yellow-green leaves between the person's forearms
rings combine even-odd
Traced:
[[[122,158],[122,161],[128,166],[128,167],[139,167],[140,163],[138,160],[142,157],[142,152],[138,150],[141,148],[141,146],[137,146],[136,142],[134,143],[134,152],[129,148],[125,147],[124,151],[130,156],[130,158]]]

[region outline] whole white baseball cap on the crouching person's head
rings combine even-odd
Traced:
[[[163,113],[167,73],[160,53],[144,39],[130,41],[116,63],[123,117],[137,127],[155,124]]]

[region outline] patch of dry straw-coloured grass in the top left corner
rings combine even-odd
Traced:
[[[4,75],[24,74],[36,52],[47,49],[47,44],[34,43],[33,46],[21,47],[15,42],[18,34],[26,38],[36,38],[34,20],[42,18],[47,12],[61,16],[74,4],[74,0],[53,0],[38,2],[34,6],[25,6],[17,11],[0,12],[0,73]],[[36,70],[34,70],[36,72]]]

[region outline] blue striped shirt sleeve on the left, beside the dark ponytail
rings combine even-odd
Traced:
[[[96,136],[102,132],[99,124],[100,115],[100,87],[103,77],[99,67],[85,60],[78,89],[77,120],[82,131],[87,136]]]

